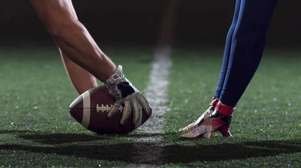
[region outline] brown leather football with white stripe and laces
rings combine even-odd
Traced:
[[[107,87],[98,86],[78,96],[70,104],[69,112],[85,128],[99,134],[123,134],[131,132],[147,121],[152,115],[152,112],[150,112],[150,115],[147,116],[142,109],[142,117],[136,125],[132,123],[132,113],[127,122],[121,125],[122,107],[121,110],[118,109],[118,112],[112,118],[107,118],[108,111],[115,101],[116,99],[110,95]]]

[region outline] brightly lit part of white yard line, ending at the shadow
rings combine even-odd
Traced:
[[[168,99],[168,85],[171,61],[171,49],[165,47],[155,52],[155,61],[149,75],[145,96],[153,108],[152,117],[141,126],[145,133],[163,133],[165,125],[165,103]]]

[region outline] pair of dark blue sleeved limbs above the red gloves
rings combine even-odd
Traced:
[[[215,97],[235,107],[253,78],[278,0],[237,0]]]

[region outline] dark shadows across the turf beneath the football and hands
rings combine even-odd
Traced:
[[[162,134],[161,134],[162,135]],[[83,135],[83,134],[35,134],[19,135],[21,138],[38,141],[54,146],[0,145],[0,149],[25,150],[31,152],[56,153],[76,157],[86,157],[108,161],[125,161],[132,163],[189,163],[193,161],[219,161],[229,159],[244,159],[249,157],[265,157],[285,153],[301,152],[301,139],[280,141],[249,141],[243,143],[227,143],[216,145],[162,145],[154,142],[139,141],[114,142],[103,144],[97,141],[93,144],[62,144],[64,142],[79,142],[93,140],[109,140],[117,135]],[[118,135],[118,137],[149,137],[145,135]],[[156,136],[156,135],[151,135]],[[161,151],[163,154],[158,155]],[[158,157],[159,156],[159,157]]]

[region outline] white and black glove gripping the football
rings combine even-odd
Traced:
[[[124,104],[124,107],[120,120],[121,125],[127,122],[131,112],[133,112],[133,124],[136,124],[142,117],[140,115],[141,107],[147,116],[152,112],[152,107],[150,107],[146,98],[123,75],[121,65],[118,65],[115,73],[104,82],[104,85],[106,85],[110,94],[116,98],[116,102],[107,115],[108,118],[116,114],[122,104]]]

